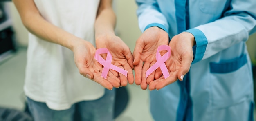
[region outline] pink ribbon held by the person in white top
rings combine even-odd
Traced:
[[[100,56],[100,54],[107,54],[106,60],[103,59],[103,57]],[[103,65],[103,70],[101,73],[101,77],[107,79],[107,75],[108,75],[108,71],[109,69],[115,70],[123,75],[125,75],[127,77],[127,70],[124,70],[122,68],[119,68],[113,64],[111,64],[112,62],[112,55],[110,54],[110,52],[108,51],[107,48],[99,48],[96,50],[96,53],[94,55],[94,58],[97,60],[97,62],[99,62],[101,65]]]

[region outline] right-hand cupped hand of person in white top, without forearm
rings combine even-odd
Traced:
[[[130,48],[120,37],[117,37],[114,34],[100,35],[96,37],[96,48],[107,48],[112,55],[112,64],[128,71],[126,77],[125,75],[110,69],[110,72],[119,78],[120,86],[126,86],[127,81],[129,84],[133,84],[133,56]],[[106,59],[106,55],[103,55],[103,58]]]

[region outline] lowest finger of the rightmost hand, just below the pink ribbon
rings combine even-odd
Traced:
[[[168,84],[172,84],[173,82],[177,81],[177,79],[177,72],[170,73],[170,76],[166,79],[159,80],[159,82],[155,85],[155,89],[160,90]]]

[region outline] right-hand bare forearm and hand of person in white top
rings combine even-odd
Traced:
[[[107,48],[112,55],[112,64],[128,71],[127,77],[121,73],[111,70],[119,78],[120,86],[126,86],[127,82],[134,81],[132,69],[134,68],[133,55],[130,48],[115,35],[116,17],[112,9],[112,0],[101,0],[97,18],[95,21],[96,48]],[[103,55],[106,57],[106,55]]]

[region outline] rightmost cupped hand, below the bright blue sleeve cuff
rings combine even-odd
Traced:
[[[169,46],[171,47],[171,57],[165,62],[170,76],[164,79],[162,75],[155,81],[150,82],[149,90],[159,90],[177,79],[183,80],[184,75],[189,72],[193,61],[193,45],[195,45],[194,36],[191,33],[183,32],[175,35]]]

